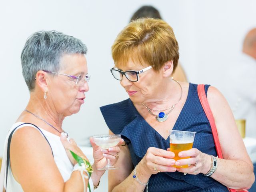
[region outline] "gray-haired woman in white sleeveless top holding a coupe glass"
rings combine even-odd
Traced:
[[[69,150],[86,156],[62,130],[64,118],[79,112],[89,90],[86,52],[80,40],[56,31],[36,32],[26,41],[21,62],[30,100],[6,138],[0,191],[80,192],[88,183],[92,191],[104,174],[97,168],[106,158],[116,163],[118,146],[103,153],[90,139],[94,172],[89,179]]]

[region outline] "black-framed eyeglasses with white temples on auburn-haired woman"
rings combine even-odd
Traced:
[[[110,69],[110,72],[112,73],[112,75],[114,76],[114,78],[116,80],[119,80],[121,81],[123,79],[123,75],[126,76],[126,78],[131,81],[131,82],[136,82],[139,80],[139,75],[140,73],[143,73],[149,69],[151,69],[152,66],[148,66],[142,70],[139,70],[139,71],[133,71],[133,70],[129,70],[129,71],[121,71],[121,70],[118,70],[118,68],[111,68]]]

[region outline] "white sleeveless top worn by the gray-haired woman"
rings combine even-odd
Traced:
[[[1,173],[0,173],[0,191],[2,191],[2,188],[6,188],[6,160],[7,160],[7,145],[8,145],[8,138],[10,133],[14,128],[17,126],[23,124],[23,122],[17,122],[12,125],[10,128],[8,135],[6,137],[5,143],[4,143],[4,155],[3,155],[3,161],[2,161],[2,168],[1,168]],[[16,130],[24,127],[24,126],[30,126],[34,127],[35,126],[31,124],[24,124],[19,126]],[[15,131],[16,131],[15,130]],[[38,130],[36,128],[36,130]],[[60,137],[56,136],[42,128],[40,128],[44,136],[47,138],[48,142],[50,143],[50,146],[52,148],[53,156],[54,156],[54,161],[56,162],[56,165],[60,171],[60,174],[62,175],[62,178],[64,182],[66,182],[72,173],[72,170],[74,168],[73,164],[70,162],[66,150],[62,145],[62,142],[60,141]],[[14,131],[14,132],[15,132]],[[39,131],[39,130],[38,130]],[[91,191],[93,191],[93,183],[92,179],[90,178],[89,180],[90,186],[91,186]],[[89,190],[87,190],[89,191]],[[15,180],[15,178],[12,175],[12,170],[10,168],[10,163],[8,167],[8,178],[7,178],[7,189],[6,192],[23,192],[21,185]]]

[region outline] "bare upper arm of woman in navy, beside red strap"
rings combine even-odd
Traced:
[[[212,86],[208,89],[207,98],[214,115],[224,159],[243,160],[253,169],[228,102],[220,91]]]

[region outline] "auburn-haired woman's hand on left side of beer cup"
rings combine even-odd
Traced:
[[[172,165],[175,165],[174,156],[174,152],[150,147],[140,164],[146,172],[151,174],[157,174],[158,172],[175,172],[176,168],[172,167]]]

